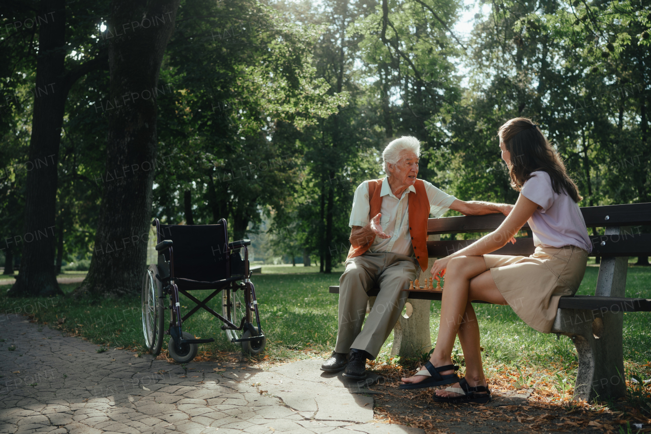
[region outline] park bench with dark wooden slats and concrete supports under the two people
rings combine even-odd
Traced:
[[[651,312],[651,299],[625,297],[629,256],[651,256],[651,234],[641,234],[640,230],[641,225],[651,224],[651,203],[592,206],[581,208],[581,212],[587,227],[605,227],[604,235],[590,237],[593,246],[590,256],[601,257],[597,286],[594,296],[561,297],[552,332],[570,336],[577,350],[579,368],[574,399],[620,398],[626,394],[624,312]],[[440,241],[441,234],[491,232],[504,219],[501,214],[429,219],[430,267],[433,258],[442,258],[477,241]],[[528,225],[523,226],[527,228]],[[533,238],[518,238],[515,244],[509,243],[493,254],[528,256],[533,252]],[[422,273],[421,282],[424,276]],[[339,286],[331,286],[330,292],[339,293]],[[374,288],[368,295],[373,297],[378,292],[379,288]],[[394,354],[403,355],[414,347],[421,352],[431,348],[431,300],[441,300],[441,291],[409,292],[407,313],[394,329]]]

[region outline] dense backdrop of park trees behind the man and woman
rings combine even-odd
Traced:
[[[465,37],[453,0],[59,3],[2,6],[0,262],[21,260],[16,295],[56,293],[79,260],[83,292],[136,292],[153,217],[224,217],[234,239],[329,273],[394,137],[422,141],[421,176],[445,191],[513,202],[496,132],[514,116],[557,147],[581,206],[650,200],[648,1],[483,3]]]

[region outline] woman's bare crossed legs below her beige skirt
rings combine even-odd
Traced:
[[[466,362],[467,381],[475,386],[480,381],[485,385],[479,350],[479,329],[477,316],[471,300],[484,300],[494,304],[505,305],[490,271],[486,271],[486,263],[482,256],[460,256],[453,258],[445,272],[446,282],[441,302],[441,318],[436,347],[430,357],[434,366],[452,364],[452,347],[454,339],[459,334]],[[454,371],[441,372],[442,375]],[[476,378],[476,380],[475,380]],[[403,378],[404,383],[419,383],[424,380],[422,375]],[[473,384],[474,383],[474,384]],[[443,392],[447,394],[447,392]]]

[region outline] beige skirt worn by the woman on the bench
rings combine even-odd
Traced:
[[[579,289],[588,252],[579,247],[536,247],[531,256],[485,254],[497,289],[530,327],[549,333],[562,295]]]

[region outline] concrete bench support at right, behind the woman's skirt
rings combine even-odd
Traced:
[[[618,235],[620,230],[623,233],[625,228],[607,227],[605,234]],[[626,256],[602,258],[594,295],[624,297],[627,267]],[[575,400],[592,401],[598,396],[620,398],[626,395],[623,323],[624,314],[618,312],[618,308],[606,312],[598,309],[558,310],[552,332],[570,336],[579,357]]]

